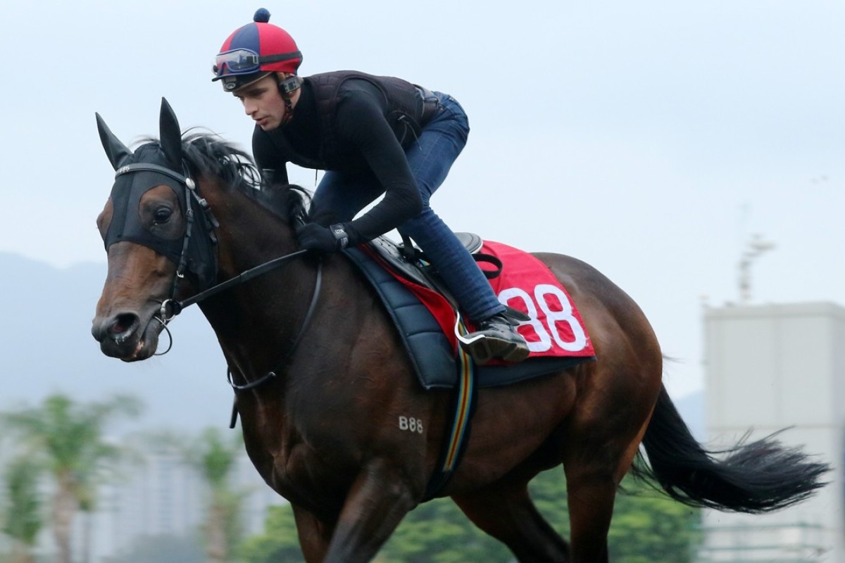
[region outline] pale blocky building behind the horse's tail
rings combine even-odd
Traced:
[[[752,516],[705,511],[699,561],[845,563],[845,309],[832,303],[707,309],[708,449],[745,432],[830,463],[830,484],[809,501]]]

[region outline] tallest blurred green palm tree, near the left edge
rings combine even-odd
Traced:
[[[118,395],[100,403],[77,404],[61,393],[41,406],[10,411],[2,420],[44,458],[55,481],[50,527],[59,563],[71,563],[71,530],[80,502],[92,502],[90,484],[107,463],[116,461],[120,447],[104,440],[106,423],[118,415],[140,412],[137,398]]]

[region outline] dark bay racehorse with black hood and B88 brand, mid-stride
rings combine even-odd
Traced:
[[[108,259],[92,327],[101,351],[150,358],[177,309],[198,302],[230,370],[248,456],[290,501],[305,560],[372,560],[427,500],[450,392],[419,384],[346,257],[297,250],[292,225],[305,203],[294,187],[261,189],[248,154],[214,135],[183,138],[166,100],[160,140],[134,151],[97,122],[117,171],[97,219]],[[607,561],[614,496],[630,470],[687,505],[726,511],[777,510],[823,485],[825,464],[771,436],[707,452],[662,386],[662,352],[639,306],[580,260],[536,256],[570,292],[596,359],[480,390],[462,462],[437,494],[518,560]],[[560,465],[569,541],[528,494],[535,475]]]

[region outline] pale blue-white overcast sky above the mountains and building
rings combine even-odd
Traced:
[[[95,112],[134,143],[157,136],[164,96],[183,128],[248,149],[210,68],[263,6],[303,75],[355,69],[459,100],[472,133],[435,211],[608,275],[676,359],[673,396],[703,388],[703,307],[740,300],[755,236],[774,247],[752,261],[750,304],[845,306],[841,0],[262,1],[4,3],[0,252],[105,263],[113,171]],[[313,171],[290,176],[314,187]]]

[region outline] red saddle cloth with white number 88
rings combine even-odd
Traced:
[[[529,359],[595,355],[581,314],[548,266],[528,252],[500,242],[485,241],[479,252],[502,263],[501,273],[489,280],[499,301],[531,317],[517,328],[531,350]],[[489,269],[487,263],[479,264],[482,269]],[[456,318],[449,301],[402,276],[395,277],[423,302],[456,350]],[[467,328],[472,331],[472,326]]]

